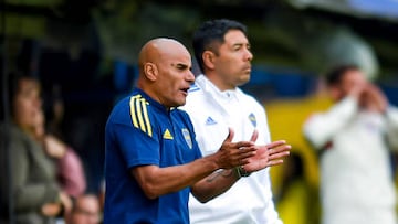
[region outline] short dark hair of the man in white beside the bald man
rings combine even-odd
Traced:
[[[206,21],[193,33],[193,53],[201,71],[203,71],[202,53],[209,50],[218,54],[216,46],[224,42],[224,35],[230,30],[240,30],[248,35],[245,25],[228,19]]]

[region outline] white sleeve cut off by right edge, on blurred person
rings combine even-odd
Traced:
[[[394,151],[398,151],[398,108],[389,106],[386,111],[387,141]]]

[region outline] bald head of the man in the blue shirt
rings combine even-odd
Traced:
[[[139,52],[138,66],[139,88],[167,107],[185,104],[195,76],[190,71],[191,56],[180,42],[166,38],[150,40]]]

